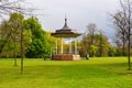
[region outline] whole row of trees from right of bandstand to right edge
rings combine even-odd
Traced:
[[[121,36],[121,34],[119,36],[116,33],[116,36],[112,38],[111,43],[103,31],[99,30],[95,23],[90,23],[88,24],[87,31],[84,33],[82,40],[79,43],[79,54],[82,57],[87,54],[91,57],[127,56],[128,46],[123,45]]]

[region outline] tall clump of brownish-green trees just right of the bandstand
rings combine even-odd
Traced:
[[[108,42],[107,35],[101,30],[99,31],[95,23],[90,23],[80,41],[79,53],[81,56],[89,54],[91,57],[113,56],[114,48]]]

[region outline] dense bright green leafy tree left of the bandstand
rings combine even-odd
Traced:
[[[32,43],[28,48],[26,57],[42,58],[48,54],[51,48],[47,43],[46,32],[42,29],[38,20],[34,16],[28,19],[26,29],[31,30]]]

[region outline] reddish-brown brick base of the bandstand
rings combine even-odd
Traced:
[[[57,54],[52,55],[53,61],[77,61],[80,59],[80,55],[75,54]]]

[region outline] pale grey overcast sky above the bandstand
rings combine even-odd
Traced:
[[[119,7],[119,0],[29,0],[36,11],[44,30],[55,31],[64,25],[65,14],[68,25],[78,32],[85,32],[89,23],[96,23],[98,29],[112,36],[113,30],[108,13],[113,13]]]

